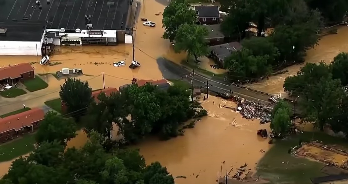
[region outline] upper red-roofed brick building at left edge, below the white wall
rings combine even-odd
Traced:
[[[0,68],[0,84],[13,85],[19,81],[23,82],[34,77],[34,68],[29,63]]]

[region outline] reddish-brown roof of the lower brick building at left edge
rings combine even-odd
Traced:
[[[23,127],[31,126],[32,123],[43,120],[45,112],[42,109],[34,108],[19,114],[7,116],[0,119],[0,134],[10,130],[20,130]]]

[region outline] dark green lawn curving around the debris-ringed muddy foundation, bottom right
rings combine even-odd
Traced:
[[[288,154],[288,150],[302,141],[321,140],[326,144],[340,144],[348,148],[344,139],[324,133],[303,132],[287,140],[278,140],[258,163],[258,175],[272,183],[310,184],[310,178],[325,176],[320,170],[325,165],[321,162],[298,158]],[[283,164],[284,162],[284,164]],[[288,162],[288,164],[287,164]],[[279,178],[279,179],[278,179]]]

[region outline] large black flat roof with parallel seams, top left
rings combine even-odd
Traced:
[[[123,30],[126,28],[130,0],[1,0],[0,21],[33,21],[46,23],[51,29],[86,29],[85,15],[91,16],[93,29]],[[27,17],[28,20],[22,20]],[[122,27],[121,27],[122,26]]]

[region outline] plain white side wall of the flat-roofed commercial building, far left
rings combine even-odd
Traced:
[[[0,41],[0,55],[41,56],[41,42]]]

